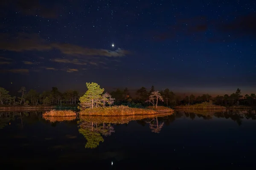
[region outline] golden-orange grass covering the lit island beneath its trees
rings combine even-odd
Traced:
[[[167,110],[166,110],[167,111]],[[168,112],[173,110],[168,108]],[[79,112],[79,115],[87,116],[130,116],[130,115],[149,115],[162,112],[153,108],[129,108],[128,106],[113,106],[106,108],[88,108]]]

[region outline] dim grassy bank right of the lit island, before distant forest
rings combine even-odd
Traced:
[[[195,105],[176,106],[175,109],[226,109],[226,107],[203,102]]]

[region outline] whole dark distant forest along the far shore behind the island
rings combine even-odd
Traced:
[[[149,90],[145,87],[138,89],[135,96],[130,96],[128,88],[123,90],[116,89],[116,91],[112,91],[110,94],[116,99],[114,105],[129,105],[139,108],[150,105],[146,101],[153,91],[155,91],[154,86]],[[27,91],[25,87],[21,87],[18,93],[19,96],[11,96],[9,95],[9,91],[0,87],[0,105],[77,105],[79,97],[83,95],[73,90],[61,93],[57,87],[52,87],[51,91],[44,91],[41,94],[34,89]],[[168,88],[160,91],[160,94],[163,96],[163,102],[159,102],[159,105],[170,107],[193,105],[209,101],[212,101],[215,105],[223,106],[256,105],[255,94],[242,96],[239,88],[233,94],[224,94],[223,96],[216,97],[212,97],[210,94],[202,94],[201,96],[191,94],[190,96],[181,97],[175,95]]]

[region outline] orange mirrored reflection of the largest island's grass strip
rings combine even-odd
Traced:
[[[132,120],[141,120],[146,118],[163,117],[172,115],[172,113],[157,113],[151,115],[130,115],[130,116],[79,116],[80,120],[87,122],[97,123],[114,123],[114,124],[125,124]]]

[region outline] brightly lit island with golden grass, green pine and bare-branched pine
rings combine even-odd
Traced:
[[[154,105],[147,108],[131,108],[128,106],[111,106],[114,103],[113,98],[108,92],[104,93],[104,88],[95,83],[86,83],[88,90],[79,98],[79,115],[88,116],[130,116],[130,115],[149,115],[164,112],[174,112],[167,107],[157,107],[158,101],[163,101],[159,91],[152,91],[149,96],[149,102]]]

